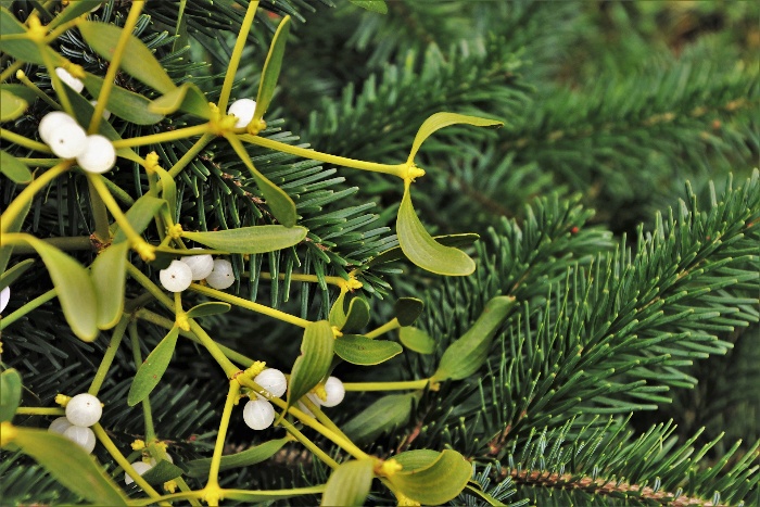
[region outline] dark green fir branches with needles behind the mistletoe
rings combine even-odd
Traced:
[[[37,2],[5,3],[23,20]],[[118,25],[128,3],[112,0],[96,16]],[[190,52],[174,52],[164,31],[176,23],[177,3],[148,2],[139,36],[174,78],[218,96],[248,2],[189,0],[188,29],[198,41]],[[425,294],[416,326],[436,340],[435,354],[404,354],[372,368],[343,365],[339,375],[430,377],[489,299],[508,294],[518,305],[481,371],[426,392],[408,420],[367,439],[368,452],[389,457],[451,446],[472,459],[485,491],[512,506],[760,504],[756,2],[392,0],[387,15],[338,0],[261,7],[236,98],[255,97],[277,16],[295,21],[265,137],[390,162],[405,159],[422,119],[438,111],[507,124],[443,130],[420,153],[427,170],[416,183],[420,216],[434,233],[481,235],[470,248],[476,274],[444,279],[401,261],[369,265],[360,276],[372,303],[370,328],[392,316],[395,299]],[[105,69],[74,35],[62,38],[61,51],[89,72]],[[47,75],[25,71],[50,89]],[[121,86],[152,93],[124,79]],[[14,130],[34,137],[45,112],[37,103]],[[129,135],[183,125],[181,116],[149,127],[119,122],[117,130]],[[162,163],[170,165],[189,144],[163,147]],[[290,281],[290,274],[342,276],[397,244],[400,187],[371,173],[250,152],[293,198],[309,236],[289,251],[237,256],[242,276],[235,290],[325,317],[337,291]],[[258,190],[236,161],[227,144],[213,143],[183,173],[186,229],[251,225],[262,215]],[[147,185],[139,174],[124,164],[113,178],[135,199]],[[67,178],[35,202],[25,230],[42,238],[91,232],[81,212],[89,208],[86,181]],[[2,179],[3,207],[18,191]],[[273,280],[259,280],[259,271]],[[284,280],[277,279],[281,272]],[[50,287],[43,270],[27,271],[5,313]],[[292,329],[271,319],[232,312],[203,324],[270,366],[296,355]],[[141,333],[144,356],[163,332],[145,326]],[[104,343],[76,339],[48,303],[3,330],[2,360],[22,372],[25,405],[51,406],[59,392],[86,390]],[[142,432],[140,408],[123,403],[131,357],[126,343],[101,395],[103,420],[122,447]],[[172,441],[180,466],[213,447],[224,380],[203,351],[180,341],[151,396],[157,433]],[[380,395],[350,393],[335,421],[349,422]],[[253,433],[241,420],[229,451],[279,433]],[[104,452],[96,454],[115,467]],[[227,471],[223,486],[291,487],[321,483],[328,473],[291,445],[274,462]],[[78,500],[8,452],[0,497],[10,505]],[[371,500],[393,497],[376,487]],[[454,504],[478,502],[463,494]]]

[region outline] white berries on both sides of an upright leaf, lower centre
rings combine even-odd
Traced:
[[[282,371],[275,368],[267,368],[258,373],[254,379],[258,385],[264,388],[274,397],[282,397],[288,391],[288,381]],[[326,400],[320,400],[316,394],[308,394],[308,398],[317,406],[334,407],[343,401],[345,389],[343,382],[335,377],[330,377],[325,382]],[[311,416],[314,416],[303,403],[299,402],[299,407]],[[243,407],[243,420],[252,430],[265,430],[275,421],[275,407],[264,396],[256,394],[256,400],[251,400]]]

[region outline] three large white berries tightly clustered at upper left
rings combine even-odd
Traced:
[[[100,134],[88,136],[74,118],[61,111],[45,115],[39,123],[39,137],[56,156],[76,159],[88,173],[105,173],[116,163],[116,150],[107,138]]]

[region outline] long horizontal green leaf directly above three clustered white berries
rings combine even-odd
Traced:
[[[306,238],[305,227],[252,226],[208,232],[182,232],[182,237],[230,253],[264,253],[287,249]]]

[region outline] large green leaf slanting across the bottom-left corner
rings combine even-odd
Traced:
[[[12,442],[61,484],[97,505],[127,505],[127,498],[79,445],[58,433],[14,427]]]

